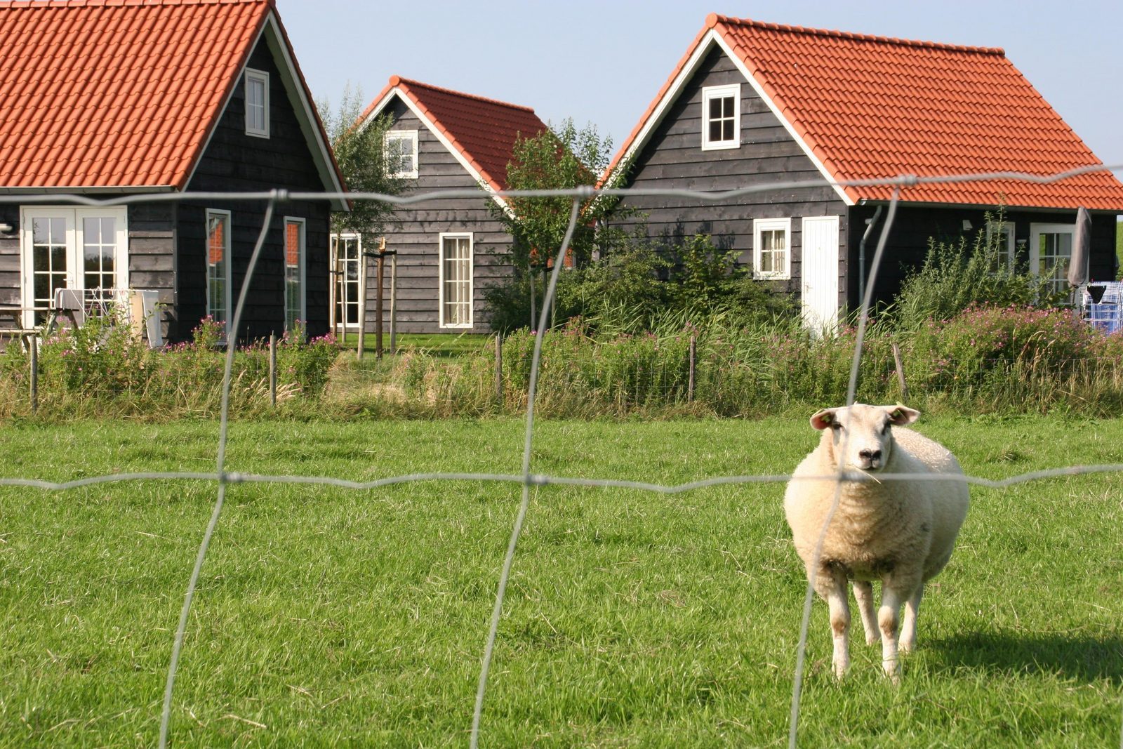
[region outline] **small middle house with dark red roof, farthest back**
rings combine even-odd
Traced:
[[[547,129],[535,110],[438,88],[398,75],[363,112],[359,127],[390,118],[387,153],[407,183],[402,195],[436,190],[478,190],[480,197],[447,198],[403,210],[387,228],[386,250],[396,253],[395,318],[402,332],[485,332],[484,294],[513,272],[512,238],[489,211],[506,203],[506,165],[515,141]],[[365,287],[366,325],[375,320],[374,268],[362,264],[360,238],[335,240],[336,319],[358,329],[358,298]],[[365,267],[366,271],[360,271]],[[366,275],[366,283],[359,278]],[[383,299],[391,280],[383,274]],[[383,305],[385,322],[389,308]]]

